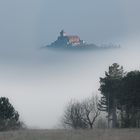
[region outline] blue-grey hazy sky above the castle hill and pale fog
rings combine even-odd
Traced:
[[[139,34],[139,0],[1,0],[0,48],[23,50],[55,40],[61,29],[91,43]]]

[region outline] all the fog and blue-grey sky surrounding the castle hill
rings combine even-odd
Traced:
[[[30,127],[58,127],[67,102],[96,94],[114,62],[140,69],[138,0],[0,1],[0,96],[10,99]],[[95,44],[121,49],[40,49],[61,29]]]

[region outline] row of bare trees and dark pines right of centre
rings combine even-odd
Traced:
[[[72,128],[93,128],[100,112],[106,112],[104,119],[107,118],[108,128],[140,127],[140,71],[124,72],[122,66],[114,63],[100,78],[99,91],[99,100],[92,97],[86,103],[70,102],[63,124]]]

